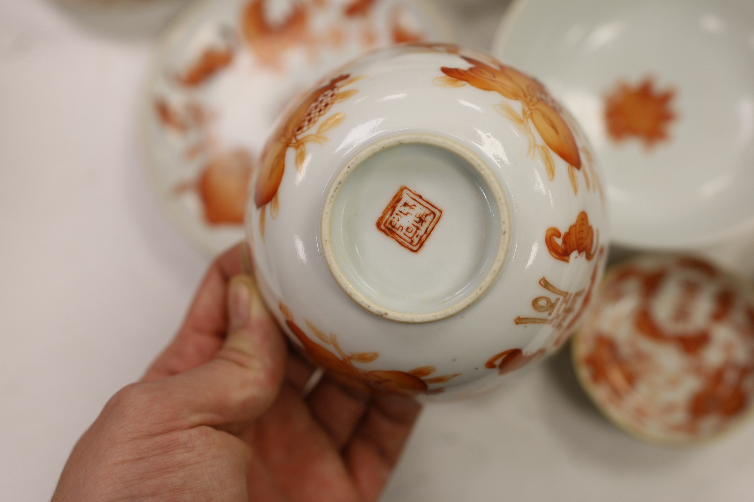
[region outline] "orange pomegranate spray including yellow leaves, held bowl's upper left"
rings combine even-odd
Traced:
[[[313,128],[320,118],[333,108],[336,103],[351,98],[359,91],[356,89],[342,90],[363,77],[340,75],[333,78],[327,84],[310,93],[297,107],[287,115],[283,123],[274,132],[262,151],[262,162],[259,178],[256,181],[254,203],[259,208],[259,232],[264,238],[265,232],[265,207],[271,205],[271,217],[277,215],[277,189],[283,180],[285,171],[285,157],[288,148],[296,150],[296,168],[300,170],[304,166],[306,158],[306,144],[315,142],[320,145],[328,141],[325,132],[345,119],[344,113],[333,114],[327,117],[314,134],[305,133]]]

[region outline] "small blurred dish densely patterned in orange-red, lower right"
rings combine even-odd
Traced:
[[[608,272],[572,342],[581,385],[651,443],[716,437],[754,400],[754,296],[710,263],[645,256]]]

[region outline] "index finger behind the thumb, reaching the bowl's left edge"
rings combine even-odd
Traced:
[[[228,329],[225,311],[228,281],[250,263],[245,244],[220,255],[207,270],[185,321],[173,342],[158,356],[143,382],[164,379],[210,361],[222,346]]]

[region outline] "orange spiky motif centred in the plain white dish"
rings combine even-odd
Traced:
[[[667,128],[676,119],[670,108],[675,91],[654,90],[651,77],[632,87],[621,82],[605,96],[605,123],[614,141],[638,138],[645,148],[669,138]]]

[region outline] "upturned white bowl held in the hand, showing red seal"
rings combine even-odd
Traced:
[[[608,230],[600,173],[544,87],[404,44],[325,78],[265,146],[247,235],[262,294],[365,390],[482,391],[566,341]]]

